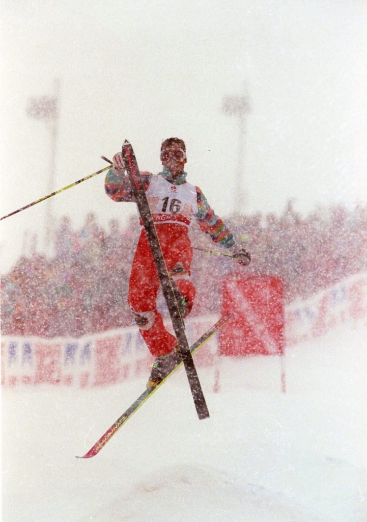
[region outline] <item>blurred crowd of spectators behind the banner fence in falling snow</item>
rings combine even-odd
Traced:
[[[223,278],[233,272],[282,277],[290,302],[367,269],[367,206],[320,208],[301,218],[289,201],[280,216],[258,212],[225,221],[252,263],[243,268],[195,250],[192,315],[219,312]],[[80,230],[62,218],[52,257],[33,248],[2,275],[2,334],[79,337],[132,325],[127,291],[138,234],[136,218],[123,229],[111,220],[108,230],[91,213]],[[193,246],[226,252],[196,226],[190,235]]]

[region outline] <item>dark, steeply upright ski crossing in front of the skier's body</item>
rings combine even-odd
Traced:
[[[138,163],[132,146],[128,140],[124,141],[122,152],[131,188],[138,205],[139,214],[153,254],[158,276],[161,281],[162,292],[172,320],[172,325],[180,348],[183,364],[185,365],[195,408],[197,410],[199,419],[205,419],[209,417],[209,410],[207,409],[203,390],[199,381],[199,376],[192,360],[190,346],[185,334],[185,325],[183,324],[182,317],[178,309],[173,284],[167,271],[162,248],[158,240],[158,235],[154,226],[148,200],[146,199]]]

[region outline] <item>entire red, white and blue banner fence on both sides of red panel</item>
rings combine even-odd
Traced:
[[[216,315],[190,319],[186,325],[189,342],[198,339],[217,319]],[[367,325],[365,272],[334,284],[311,299],[286,306],[286,346],[322,336],[342,323],[352,327],[361,322]],[[199,367],[213,365],[223,353],[219,336],[213,336],[195,355],[195,363]],[[147,375],[153,361],[136,327],[78,339],[3,336],[1,355],[1,381],[5,387],[108,386]]]

